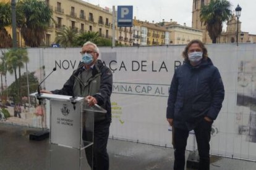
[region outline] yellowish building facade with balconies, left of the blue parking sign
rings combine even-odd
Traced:
[[[46,4],[53,10],[55,21],[46,31],[46,46],[55,43],[56,31],[62,26],[79,31],[98,31],[101,37],[112,39],[113,17],[109,9],[81,0],[46,0]]]

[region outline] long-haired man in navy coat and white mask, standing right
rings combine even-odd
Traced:
[[[182,55],[184,65],[174,72],[166,111],[168,123],[174,128],[174,169],[184,169],[187,138],[194,130],[199,169],[208,170],[211,125],[221,110],[224,86],[200,40],[190,41]]]

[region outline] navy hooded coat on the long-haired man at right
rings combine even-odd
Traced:
[[[204,116],[215,120],[223,99],[223,82],[211,60],[202,60],[197,67],[187,61],[175,70],[166,118],[173,118],[174,127],[190,131]]]

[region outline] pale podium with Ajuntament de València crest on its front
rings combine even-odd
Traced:
[[[89,107],[83,97],[37,92],[30,96],[50,101],[48,169],[93,169],[94,114],[106,110]]]

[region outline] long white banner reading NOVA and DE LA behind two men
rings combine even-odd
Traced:
[[[109,137],[172,147],[166,107],[174,70],[183,63],[184,48],[185,46],[100,47],[99,58],[113,71],[112,123]],[[223,108],[211,131],[210,152],[255,161],[256,44],[211,44],[207,45],[207,49],[208,56],[220,71],[225,88]],[[81,59],[80,48],[27,51],[27,70],[34,73],[38,82],[54,67],[57,68],[41,85],[49,91],[61,89]],[[25,73],[25,67],[21,68],[21,75]],[[2,76],[5,84],[4,75]],[[6,87],[15,81],[14,75],[8,71],[6,79]],[[35,91],[30,91],[32,92]],[[10,99],[6,100],[11,102]],[[14,105],[7,107],[10,111],[14,110]],[[31,110],[35,110],[32,108]],[[47,114],[48,111],[46,118],[49,118]],[[22,112],[20,116],[21,118],[17,114],[14,117],[12,111],[11,117],[1,122],[36,125],[33,124],[32,113],[29,115]],[[43,127],[40,120],[35,121],[39,123],[36,126]],[[194,148],[193,137],[194,134],[191,133],[187,142],[188,150]]]

